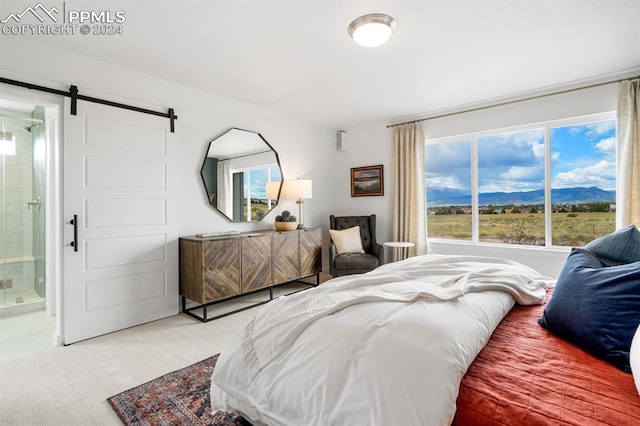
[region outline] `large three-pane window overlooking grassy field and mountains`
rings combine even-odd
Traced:
[[[582,246],[612,232],[614,117],[427,141],[428,237]]]

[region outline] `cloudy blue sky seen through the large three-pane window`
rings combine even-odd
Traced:
[[[615,189],[615,120],[551,128],[552,188]],[[544,130],[478,137],[482,192],[544,188]],[[470,191],[471,142],[428,145],[427,185]]]

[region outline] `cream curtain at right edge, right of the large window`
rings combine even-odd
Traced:
[[[640,79],[620,83],[618,91],[617,222],[640,227]]]

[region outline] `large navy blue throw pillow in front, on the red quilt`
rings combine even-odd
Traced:
[[[640,324],[640,262],[604,267],[588,251],[572,249],[538,323],[631,372],[629,350]]]

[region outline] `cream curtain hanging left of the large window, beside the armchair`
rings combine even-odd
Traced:
[[[427,252],[425,224],[424,134],[420,123],[393,127],[391,238],[414,243],[404,255]],[[408,253],[406,253],[408,251]],[[391,250],[392,260],[397,251]]]

